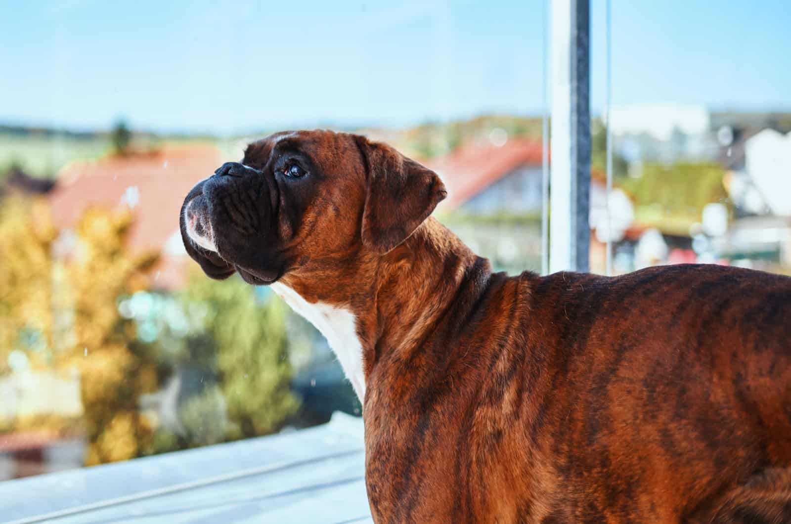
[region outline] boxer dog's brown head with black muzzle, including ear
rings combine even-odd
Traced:
[[[252,284],[383,256],[446,196],[436,173],[390,146],[332,131],[253,142],[195,185],[181,209],[187,253],[214,279]]]

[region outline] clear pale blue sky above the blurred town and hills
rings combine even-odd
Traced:
[[[785,0],[611,2],[614,104],[791,109]],[[538,114],[542,17],[540,0],[3,2],[0,123],[230,134]]]

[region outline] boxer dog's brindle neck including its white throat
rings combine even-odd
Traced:
[[[392,252],[350,268],[349,277],[331,293],[317,294],[312,279],[293,276],[271,287],[324,335],[364,401],[366,382],[382,353],[407,358],[418,351],[476,260],[430,218]]]

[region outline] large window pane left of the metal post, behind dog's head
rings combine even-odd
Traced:
[[[360,414],[311,325],[182,245],[193,184],[271,132],[392,144],[495,269],[540,268],[541,2],[0,9],[0,480]]]

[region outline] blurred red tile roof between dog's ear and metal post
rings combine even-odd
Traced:
[[[541,149],[541,142],[534,139],[513,138],[502,146],[472,142],[425,163],[439,173],[448,188],[444,207],[453,208],[522,165],[540,166]]]

